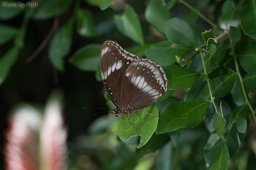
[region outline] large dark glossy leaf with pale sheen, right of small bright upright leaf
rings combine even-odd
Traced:
[[[231,157],[239,150],[246,136],[247,105],[232,110],[225,116],[225,119],[228,123],[224,129],[224,138]]]

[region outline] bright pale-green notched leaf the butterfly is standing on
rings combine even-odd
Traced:
[[[141,142],[137,146],[137,148],[145,145],[153,133],[155,132],[158,124],[158,109],[156,105],[152,105],[150,107],[146,107],[144,109],[145,112],[153,114],[155,116],[149,115],[145,112],[138,111],[137,113],[130,115],[129,122],[136,128],[138,134],[141,136]],[[132,136],[136,136],[137,133],[132,125],[127,122],[128,116],[123,115],[119,120],[117,126],[117,134],[122,141],[129,140]]]

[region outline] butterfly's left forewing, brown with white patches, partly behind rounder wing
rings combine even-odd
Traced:
[[[122,79],[127,67],[139,57],[125,51],[119,44],[106,40],[100,51],[100,72],[106,92],[116,107],[120,107]]]

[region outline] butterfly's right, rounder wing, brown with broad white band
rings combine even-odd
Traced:
[[[167,92],[168,80],[161,65],[140,58],[126,69],[121,88],[124,107],[136,110],[153,105]]]

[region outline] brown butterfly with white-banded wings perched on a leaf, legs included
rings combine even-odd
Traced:
[[[125,51],[112,40],[102,44],[100,72],[107,95],[116,106],[111,113],[128,115],[128,123],[131,114],[153,105],[167,92],[168,80],[161,65]]]

